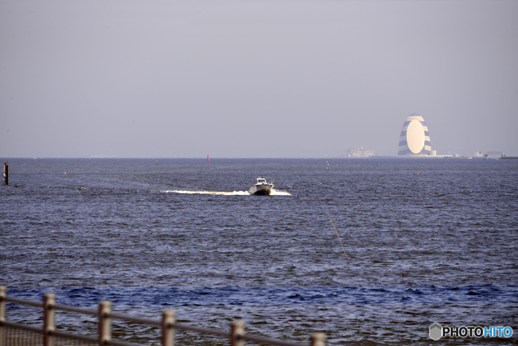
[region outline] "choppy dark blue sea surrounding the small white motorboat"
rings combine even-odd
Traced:
[[[243,320],[247,333],[294,342],[314,331],[329,345],[518,340],[518,161],[155,160],[9,159],[8,295],[110,300],[154,319],[174,309],[210,328]],[[275,178],[272,195],[248,195],[258,176]],[[95,333],[92,318],[58,314],[61,329]],[[13,304],[7,316],[41,323]],[[434,341],[436,322],[514,333]],[[153,328],[113,323],[120,340],[159,344]]]

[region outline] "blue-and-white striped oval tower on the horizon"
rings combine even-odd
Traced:
[[[399,137],[398,156],[430,155],[428,127],[422,116],[412,113],[407,117]]]

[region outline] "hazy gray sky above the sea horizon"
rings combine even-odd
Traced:
[[[518,155],[518,1],[0,2],[0,157]]]

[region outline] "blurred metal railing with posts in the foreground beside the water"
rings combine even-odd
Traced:
[[[56,337],[78,340],[88,342],[90,344],[97,344],[99,346],[137,346],[134,343],[117,341],[111,338],[111,319],[118,319],[140,324],[159,326],[162,329],[162,346],[174,346],[175,344],[175,330],[194,331],[195,333],[207,334],[228,338],[231,346],[243,346],[244,341],[252,341],[261,344],[271,344],[277,346],[307,346],[293,342],[286,342],[277,339],[263,338],[244,333],[244,322],[234,321],[231,324],[230,331],[223,331],[219,329],[207,329],[195,326],[178,324],[175,322],[175,312],[172,310],[165,310],[162,312],[161,320],[142,319],[124,314],[117,314],[111,312],[111,302],[104,300],[99,302],[97,310],[84,309],[66,305],[57,304],[55,301],[56,295],[47,293],[43,296],[43,301],[26,300],[7,296],[6,286],[0,286],[0,346],[37,346],[41,342],[8,342],[6,327],[24,329],[37,333],[43,338],[43,346],[61,346],[55,343]],[[15,323],[6,320],[6,302],[16,303],[25,306],[33,306],[43,309],[43,327],[38,328],[28,324]],[[82,334],[66,333],[64,331],[56,330],[55,328],[55,312],[57,310],[75,312],[79,314],[86,314],[98,317],[98,335],[92,337]],[[26,338],[27,340],[30,338]],[[34,338],[33,338],[34,339]],[[322,333],[315,333],[310,337],[310,346],[325,346],[325,336]],[[20,340],[20,337],[18,338]],[[22,340],[23,341],[23,340]]]

